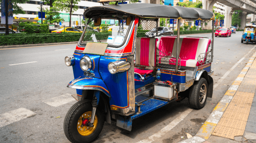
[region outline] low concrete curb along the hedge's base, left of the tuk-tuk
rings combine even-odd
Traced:
[[[18,48],[18,47],[33,47],[33,46],[47,46],[47,45],[77,44],[77,43],[78,43],[78,41],[61,42],[61,43],[27,44],[27,45],[9,45],[9,46],[0,46],[0,49],[2,49],[2,48]]]

